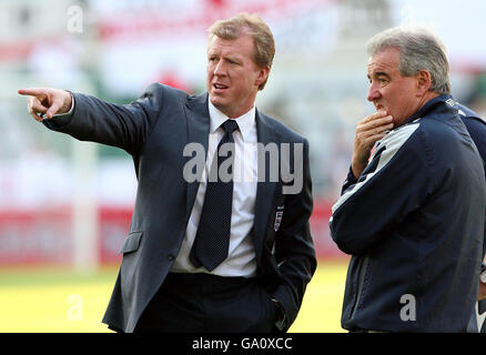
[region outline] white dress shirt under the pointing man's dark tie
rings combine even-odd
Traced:
[[[229,118],[219,111],[211,103],[211,100],[207,101],[211,121],[207,159],[185,230],[185,236],[171,272],[209,273],[203,266],[199,268],[194,267],[189,260],[189,254],[198,232],[211,162],[213,161],[217,144],[224,134],[224,130],[220,125],[229,120]],[[257,183],[255,108],[253,106],[249,112],[235,120],[239,130],[233,132],[235,155],[233,164],[233,206],[231,214],[230,247],[226,260],[214,268],[212,274],[220,276],[253,277],[256,275],[255,247],[251,234],[255,213]]]

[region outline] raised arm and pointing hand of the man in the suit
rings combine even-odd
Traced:
[[[160,115],[163,92],[163,85],[155,83],[138,100],[122,105],[59,89],[19,90],[20,94],[29,95],[32,118],[50,130],[80,141],[118,146],[132,155],[140,152]]]

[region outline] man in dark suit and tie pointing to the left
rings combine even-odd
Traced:
[[[209,32],[207,92],[198,97],[152,84],[117,105],[19,90],[49,129],[133,158],[136,201],[103,318],[115,331],[286,331],[316,267],[308,143],[254,105],[272,32],[249,14]]]

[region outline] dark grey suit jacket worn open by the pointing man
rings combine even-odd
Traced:
[[[184,179],[184,146],[199,143],[207,151],[210,115],[207,93],[189,95],[171,87],[154,83],[139,100],[118,105],[97,98],[72,93],[74,109],[65,119],[44,120],[54,131],[81,141],[93,141],[125,150],[132,155],[138,190],[130,231],[120,253],[122,264],[103,323],[122,332],[133,332],[143,310],[170,272],[181,243],[199,189],[198,180]],[[296,160],[303,166],[302,189],[284,194],[288,184],[266,169],[257,183],[252,237],[261,277],[269,297],[275,298],[286,314],[286,331],[300,310],[305,287],[315,267],[310,232],[312,184],[308,143],[279,121],[256,110],[257,141],[300,143],[303,154],[290,150],[291,171]],[[297,156],[302,155],[302,156]],[[282,154],[279,161],[282,163]],[[271,163],[270,154],[259,164]],[[260,169],[260,168],[259,168]],[[283,214],[277,214],[282,212]],[[240,312],[240,310],[235,310]]]

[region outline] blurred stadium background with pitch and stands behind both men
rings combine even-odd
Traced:
[[[311,142],[320,258],[291,332],[342,332],[347,256],[328,216],[366,102],[364,44],[397,24],[448,48],[457,100],[486,116],[482,0],[2,0],[0,2],[0,332],[108,332],[136,181],[130,156],[48,131],[20,88],[126,103],[152,82],[204,91],[206,28],[240,11],[271,26],[276,58],[259,108]]]

